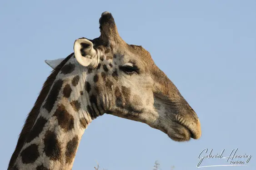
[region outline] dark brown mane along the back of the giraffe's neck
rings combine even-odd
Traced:
[[[8,169],[14,166],[15,160],[17,159],[20,150],[22,149],[22,146],[25,144],[25,141],[27,139],[27,136],[30,133],[31,128],[33,127],[36,118],[38,117],[38,114],[40,112],[40,107],[43,104],[47,94],[50,91],[50,87],[52,86],[57,74],[60,72],[60,69],[65,65],[65,63],[73,56],[74,53],[71,53],[69,56],[67,56],[50,74],[50,76],[46,79],[42,90],[40,91],[39,96],[37,97],[34,107],[31,109],[30,113],[28,114],[28,117],[26,118],[25,124],[22,128],[22,131],[20,132],[20,137],[18,139],[16,148],[14,153],[11,156],[10,163],[8,166]]]

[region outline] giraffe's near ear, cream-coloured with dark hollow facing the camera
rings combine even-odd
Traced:
[[[81,65],[85,67],[97,67],[99,61],[96,50],[90,40],[81,38],[76,39],[74,43],[75,58]]]

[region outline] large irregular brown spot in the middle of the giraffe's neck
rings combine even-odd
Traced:
[[[67,112],[64,105],[60,105],[53,116],[57,117],[59,126],[64,131],[70,131],[74,128],[74,117]]]

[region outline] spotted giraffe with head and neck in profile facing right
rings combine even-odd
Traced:
[[[196,112],[141,46],[126,44],[111,13],[100,36],[80,38],[74,53],[45,60],[53,68],[20,133],[9,170],[70,170],[80,139],[96,117],[140,121],[174,141],[201,137]]]

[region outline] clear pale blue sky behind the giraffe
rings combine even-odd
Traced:
[[[45,59],[73,52],[75,39],[100,35],[103,11],[128,44],[142,45],[201,121],[200,140],[171,141],[146,124],[104,115],[80,142],[73,170],[196,170],[198,155],[232,149],[256,169],[256,1],[1,1],[0,169],[6,169],[26,115],[51,68]],[[221,165],[221,159],[202,165]]]

